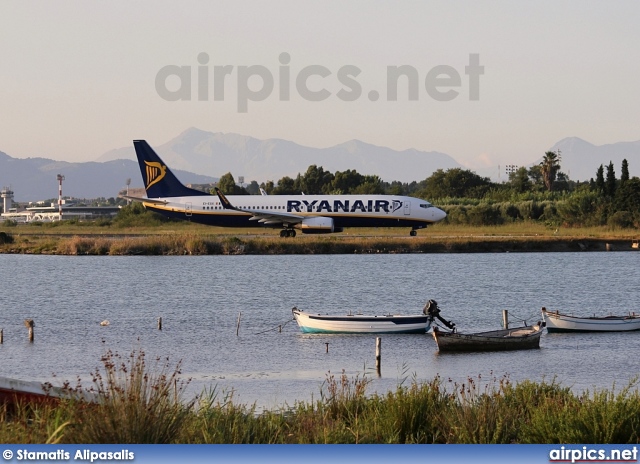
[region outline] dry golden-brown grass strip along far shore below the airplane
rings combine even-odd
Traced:
[[[640,232],[608,226],[549,228],[437,224],[408,229],[347,229],[281,238],[273,229],[222,229],[188,222],[113,227],[101,221],[4,225],[0,253],[52,255],[278,255],[633,251]]]

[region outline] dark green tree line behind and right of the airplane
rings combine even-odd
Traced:
[[[438,169],[429,177],[410,183],[385,182],[377,175],[355,170],[332,173],[311,165],[295,178],[240,186],[231,173],[217,186],[225,194],[387,194],[426,199],[448,213],[445,222],[469,225],[499,225],[515,221],[542,221],[550,226],[640,226],[640,178],[629,176],[629,163],[622,161],[620,176],[612,162],[594,169],[588,181],[573,181],[561,169],[562,154],[545,153],[542,162],[521,167],[506,182],[492,182],[463,169]],[[213,193],[213,192],[212,192]]]

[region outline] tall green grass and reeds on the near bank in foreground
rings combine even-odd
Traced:
[[[0,442],[22,444],[627,444],[640,440],[637,380],[574,393],[552,381],[481,376],[367,394],[366,375],[327,373],[319,399],[258,412],[214,387],[185,399],[180,363],[108,351],[90,386],[57,403],[0,405]],[[89,392],[93,402],[80,401]],[[86,396],[85,396],[86,397]]]

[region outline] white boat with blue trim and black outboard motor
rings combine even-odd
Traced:
[[[425,333],[431,327],[433,318],[440,313],[438,304],[429,300],[422,314],[365,316],[363,314],[345,314],[335,316],[313,314],[298,308],[291,310],[303,333]]]

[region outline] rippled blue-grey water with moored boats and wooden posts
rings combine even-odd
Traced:
[[[372,390],[405,376],[455,381],[556,377],[577,390],[640,373],[640,332],[544,334],[540,350],[439,355],[427,335],[303,335],[291,307],[411,314],[426,300],[461,331],[533,323],[540,308],[579,315],[640,311],[640,253],[376,256],[62,257],[0,255],[0,375],[89,380],[107,349],[182,360],[190,391],[235,390],[275,407],[317,398],[326,374],[368,373]],[[242,312],[240,336],[236,336]],[[156,320],[163,318],[163,330]],[[35,342],[25,318],[35,320]],[[109,320],[108,327],[100,321]],[[277,326],[284,324],[282,333]],[[325,343],[329,352],[325,352]]]

